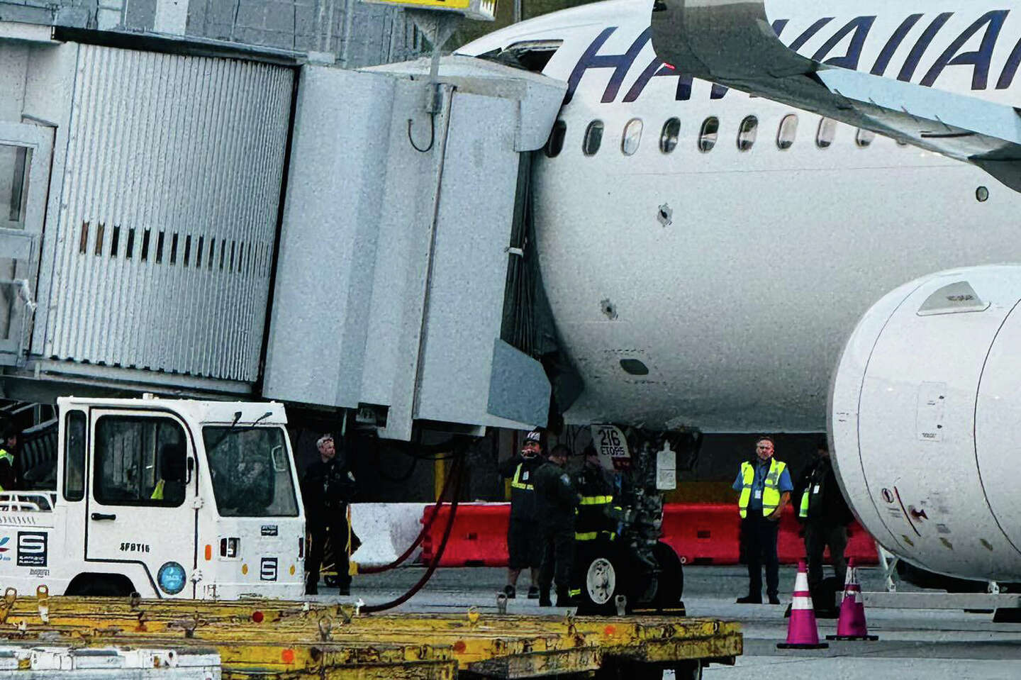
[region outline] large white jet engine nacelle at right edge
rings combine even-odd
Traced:
[[[830,389],[862,525],[933,572],[1021,581],[1021,265],[933,274],[859,322]]]

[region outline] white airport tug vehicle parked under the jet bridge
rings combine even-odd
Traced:
[[[45,481],[0,494],[0,586],[302,595],[304,513],[282,404],[145,395],[57,406],[41,437],[51,453],[32,462]]]

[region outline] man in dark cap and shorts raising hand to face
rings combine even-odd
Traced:
[[[500,465],[500,474],[510,478],[510,521],[507,524],[507,584],[503,593],[517,595],[518,576],[521,570],[532,570],[529,599],[539,596],[539,564],[542,549],[539,543],[539,525],[535,515],[535,471],[544,463],[542,433],[533,430],[525,436],[521,453]]]

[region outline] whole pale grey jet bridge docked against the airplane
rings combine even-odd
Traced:
[[[0,29],[0,396],[260,396],[405,440],[545,424],[501,329],[563,83]]]

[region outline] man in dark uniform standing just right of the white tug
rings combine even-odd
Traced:
[[[320,459],[308,467],[301,480],[305,521],[308,533],[311,534],[311,545],[305,561],[305,571],[308,573],[305,592],[309,595],[319,593],[323,547],[329,532],[337,570],[337,585],[341,595],[348,595],[351,577],[347,573],[350,549],[347,505],[354,495],[354,475],[348,469],[346,460],[337,459],[333,435],[323,435],[315,446],[319,448]]]

